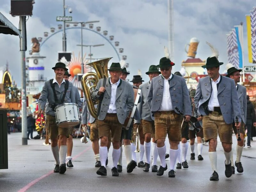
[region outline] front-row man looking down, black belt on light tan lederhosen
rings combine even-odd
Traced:
[[[202,67],[207,69],[209,76],[199,80],[194,99],[198,115],[203,116],[204,140],[209,142],[209,158],[213,171],[210,180],[219,180],[216,152],[218,134],[226,157],[225,175],[231,177],[232,123],[236,116],[239,122],[236,128],[240,129],[241,126],[235,82],[220,75],[222,64],[216,56],[207,58]]]

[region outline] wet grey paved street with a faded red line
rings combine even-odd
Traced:
[[[34,132],[34,136],[36,132]],[[251,142],[252,148],[244,148],[241,162],[244,173],[234,174],[226,178],[224,171],[224,154],[218,142],[218,173],[219,181],[210,181],[212,174],[208,157],[208,146],[204,144],[203,161],[190,160],[188,149],[188,169],[176,170],[175,178],[168,178],[168,171],[162,177],[156,173],[143,172],[135,168],[127,174],[125,156],[123,153],[123,173],[112,177],[112,147],[110,148],[107,166],[107,177],[96,174],[95,159],[91,142],[81,143],[73,139],[73,164],[65,174],[53,173],[55,161],[50,146],[44,146],[44,140],[28,140],[27,146],[21,145],[21,133],[8,135],[9,169],[0,170],[0,191],[255,191],[256,141]],[[256,138],[254,138],[256,140]],[[236,154],[236,139],[233,136],[234,160]],[[168,144],[169,148],[169,144]],[[195,149],[197,149],[195,147]],[[169,151],[169,150],[167,150]],[[197,150],[195,150],[197,156]],[[137,154],[137,160],[139,154]],[[145,155],[143,160],[145,160]],[[157,164],[160,164],[158,159]],[[167,160],[169,166],[169,160]],[[151,167],[150,167],[151,171]]]

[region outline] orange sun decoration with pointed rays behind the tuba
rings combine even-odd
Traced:
[[[68,71],[71,76],[69,77],[69,81],[73,83],[78,89],[82,89],[81,82],[78,81],[77,74],[81,74],[81,62],[82,58],[80,57],[80,52],[78,53],[78,57],[75,56],[75,53],[72,52],[73,57],[71,58],[71,61],[68,64]],[[89,60],[85,59],[86,53],[83,57],[83,63],[84,63],[84,73],[90,72],[90,66],[86,66]],[[84,74],[83,73],[83,74]]]

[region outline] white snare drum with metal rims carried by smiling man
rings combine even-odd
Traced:
[[[61,128],[80,124],[80,113],[76,103],[63,103],[55,107],[56,124]]]

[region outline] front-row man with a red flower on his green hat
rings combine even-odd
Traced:
[[[162,176],[167,170],[165,162],[166,134],[170,143],[170,171],[169,177],[175,177],[174,165],[178,155],[178,144],[181,140],[182,116],[175,108],[179,108],[185,115],[185,121],[191,117],[188,88],[183,77],[171,73],[174,63],[167,57],[160,59],[161,76],[154,77],[148,91],[148,105],[155,117],[155,139],[161,165],[157,171]]]

